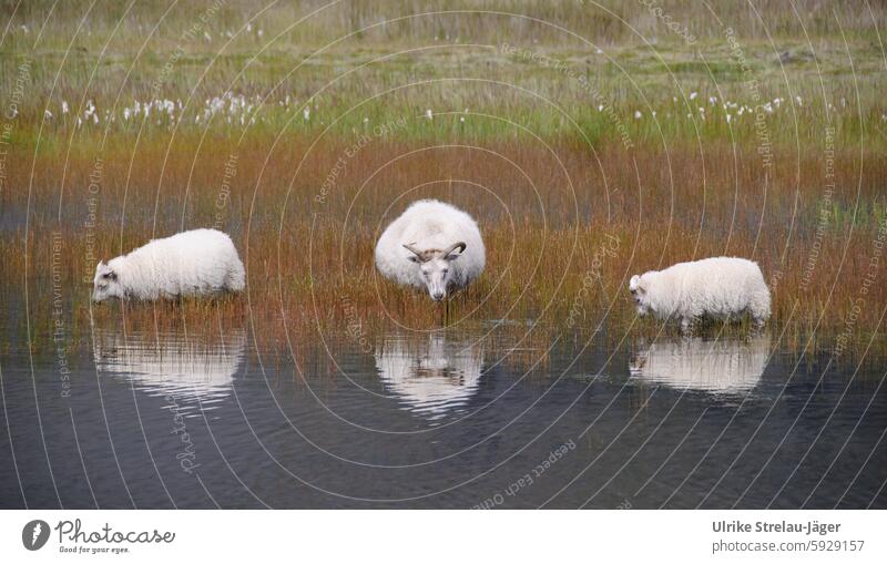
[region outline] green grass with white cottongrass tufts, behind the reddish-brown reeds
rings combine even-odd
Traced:
[[[633,139],[701,134],[745,141],[750,127],[742,123],[753,114],[722,105],[753,107],[782,98],[782,107],[769,117],[774,135],[788,141],[819,135],[823,122],[834,120],[843,139],[854,141],[865,133],[860,124],[878,123],[887,113],[878,96],[885,88],[885,53],[877,34],[887,13],[881,4],[757,2],[752,8],[716,1],[708,2],[711,13],[693,2],[663,2],[670,16],[694,22],[700,38],[707,38],[687,45],[636,2],[603,3],[628,18],[628,24],[615,27],[620,35],[610,44],[601,39],[609,29],[601,23],[606,11],[591,2],[344,2],[296,28],[322,34],[317,41],[274,29],[288,28],[325,3],[275,3],[248,23],[247,32],[248,6],[216,2],[221,0],[139,2],[125,16],[126,4],[120,2],[105,2],[89,13],[88,4],[78,2],[53,3],[51,11],[43,2],[9,4],[0,44],[0,100],[6,104],[12,98],[27,62],[19,120],[45,130],[166,134],[179,124],[234,134],[281,127],[293,133],[329,127],[330,134],[347,134],[365,123],[414,119],[429,109],[469,109],[547,137],[575,136],[578,129],[593,140],[609,140],[618,132],[614,119],[597,110],[603,105],[613,109]],[[206,17],[213,7],[220,8]],[[394,14],[470,9],[478,11],[411,18],[397,33],[348,35],[356,25],[388,21]],[[578,37],[485,10],[562,22]],[[835,29],[838,21],[840,30]],[[200,32],[183,37],[194,22]],[[741,53],[727,40],[725,25]],[[435,39],[437,30],[450,27],[459,30],[459,38],[453,31]],[[605,49],[599,52],[600,47]],[[752,79],[759,100],[752,96]],[[690,99],[693,92],[695,100]],[[225,94],[241,101],[239,107],[232,111]],[[715,104],[707,102],[712,96]],[[225,111],[207,115],[215,99]],[[149,119],[133,111],[136,104],[156,101],[175,103],[174,111],[154,106]],[[715,110],[714,115],[701,114],[700,106]],[[633,117],[636,111],[643,114],[640,121]],[[733,114],[733,131],[726,113]],[[468,125],[458,120],[419,124],[400,133],[437,139],[514,134],[507,121],[477,117]],[[32,133],[18,130],[14,141],[32,141]],[[871,135],[868,142],[884,144],[884,136]]]

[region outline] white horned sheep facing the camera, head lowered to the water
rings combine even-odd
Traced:
[[[461,209],[420,199],[376,244],[376,268],[396,283],[427,288],[435,301],[480,276],[486,263],[478,225]]]

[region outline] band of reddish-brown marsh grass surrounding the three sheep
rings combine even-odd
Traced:
[[[326,172],[349,145],[326,143],[309,152],[306,141],[287,140],[269,152],[271,142],[254,136],[237,147],[214,139],[195,157],[186,148],[195,140],[182,140],[163,170],[163,143],[146,143],[132,162],[126,147],[108,150],[94,230],[84,227],[92,152],[74,151],[67,162],[61,155],[41,158],[30,194],[31,209],[40,212],[32,213],[27,232],[21,224],[3,237],[3,293],[29,280],[32,318],[52,321],[52,242],[53,232],[60,233],[64,262],[57,285],[71,327],[88,337],[82,331],[90,315],[100,322],[119,315],[118,306],[89,307],[94,260],[88,245],[94,243],[94,258],[109,258],[152,237],[215,225],[233,234],[247,263],[247,295],[160,309],[130,306],[130,317],[201,326],[202,316],[221,315],[258,324],[259,338],[269,341],[281,340],[287,328],[310,335],[355,321],[370,332],[390,329],[392,320],[439,327],[440,307],[379,278],[373,248],[409,202],[440,197],[478,218],[488,252],[483,277],[450,304],[450,322],[529,319],[589,335],[605,321],[624,330],[638,325],[625,290],[632,274],[711,255],[761,264],[774,294],[773,324],[787,334],[834,337],[853,317],[853,339],[865,343],[880,322],[879,305],[887,304],[885,285],[876,284],[865,295],[866,307],[854,314],[864,278],[885,276],[884,260],[870,264],[887,229],[880,189],[887,157],[880,153],[863,155],[867,165],[858,182],[856,155],[839,152],[836,185],[854,189],[835,192],[826,209],[822,157],[814,151],[796,162],[778,161],[765,186],[757,154],[728,144],[702,155],[643,147],[640,160],[611,147],[599,153],[599,168],[587,148],[569,144],[553,152],[514,142],[410,155],[410,144],[379,142],[355,156],[318,202]],[[220,211],[222,163],[232,153],[238,155],[236,183]],[[29,172],[16,170],[12,182],[27,185]],[[67,188],[59,193],[62,174]],[[26,197],[12,205],[23,209]],[[656,328],[649,321],[644,327]]]

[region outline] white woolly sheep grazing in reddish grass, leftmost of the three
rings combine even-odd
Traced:
[[[194,229],[154,239],[95,267],[93,301],[157,299],[244,288],[243,263],[231,237]]]

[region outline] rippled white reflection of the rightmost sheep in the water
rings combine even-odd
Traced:
[[[740,393],[754,388],[769,356],[769,336],[746,340],[657,341],[631,361],[632,378],[672,388]]]

